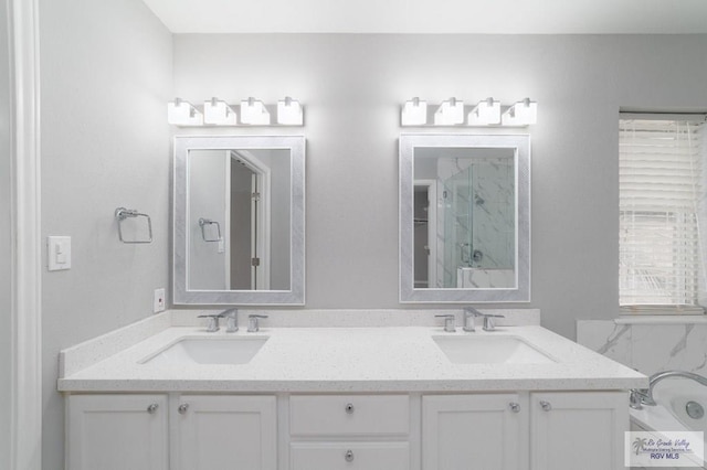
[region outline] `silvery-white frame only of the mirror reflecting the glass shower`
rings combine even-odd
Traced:
[[[413,279],[414,149],[508,148],[515,151],[516,178],[516,287],[415,288]],[[530,301],[530,136],[432,135],[400,136],[400,302],[475,303]]]

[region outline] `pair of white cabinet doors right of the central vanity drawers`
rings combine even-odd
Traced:
[[[428,395],[423,470],[619,470],[623,392]]]

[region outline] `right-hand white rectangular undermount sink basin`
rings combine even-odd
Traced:
[[[552,357],[518,337],[432,337],[450,361],[456,364],[550,364]]]

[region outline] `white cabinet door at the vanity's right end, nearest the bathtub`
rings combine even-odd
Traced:
[[[535,393],[530,415],[532,470],[624,469],[625,393]]]

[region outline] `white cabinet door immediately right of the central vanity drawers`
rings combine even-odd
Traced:
[[[423,470],[527,469],[526,405],[518,394],[424,396]]]

